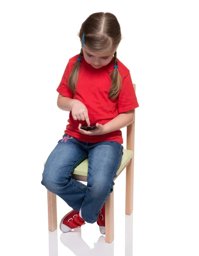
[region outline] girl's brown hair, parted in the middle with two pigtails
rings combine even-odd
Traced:
[[[91,52],[102,53],[106,51],[113,52],[117,49],[121,41],[121,29],[115,15],[109,12],[97,12],[90,15],[81,25],[78,33],[82,44],[84,34],[85,45]],[[83,56],[83,50],[78,58]],[[114,53],[114,66],[118,65],[117,52]],[[69,76],[69,87],[73,93],[76,93],[75,87],[78,81],[80,61],[76,61]],[[121,76],[118,68],[114,68],[111,75],[111,88],[109,97],[115,99],[118,97],[121,89]]]

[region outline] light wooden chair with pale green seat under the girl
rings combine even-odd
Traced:
[[[136,84],[133,84],[136,90]],[[126,210],[127,215],[133,212],[133,174],[134,174],[134,138],[135,138],[135,109],[133,123],[127,126],[127,149],[124,149],[117,177],[126,168]],[[46,162],[45,162],[46,163]],[[44,163],[44,166],[45,166]],[[87,182],[88,159],[81,162],[72,173],[72,178]],[[114,180],[115,180],[114,179]],[[115,186],[115,185],[114,185]],[[105,202],[105,241],[111,243],[114,240],[114,186],[109,198]],[[57,202],[56,195],[47,190],[48,195],[48,223],[49,231],[57,228]]]

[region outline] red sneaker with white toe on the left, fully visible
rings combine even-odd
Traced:
[[[79,228],[84,224],[86,223],[83,218],[80,217],[79,212],[72,210],[62,218],[59,227],[63,233],[66,233],[73,228]]]

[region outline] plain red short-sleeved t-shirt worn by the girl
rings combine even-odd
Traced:
[[[78,99],[84,103],[88,110],[90,126],[95,126],[97,122],[104,125],[118,116],[120,113],[139,107],[136,93],[133,88],[130,71],[118,59],[118,71],[122,79],[121,91],[115,100],[110,100],[108,98],[111,87],[110,74],[112,73],[114,67],[114,57],[108,65],[101,67],[100,69],[95,69],[88,64],[85,61],[84,56],[82,56],[80,61],[78,82],[76,84],[77,93],[73,94],[68,86],[68,79],[77,58],[78,55],[75,55],[69,59],[57,91],[65,97],[70,99]],[[64,133],[74,137],[77,140],[89,143],[112,140],[121,144],[123,143],[121,130],[94,136],[81,134],[78,129],[78,125],[81,123],[82,126],[87,126],[87,122],[74,120],[71,111],[69,113],[68,122],[69,124],[66,125],[66,130]]]

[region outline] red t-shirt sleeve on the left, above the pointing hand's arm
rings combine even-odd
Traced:
[[[69,80],[69,62],[66,66],[66,69],[63,73],[61,82],[57,88],[58,93],[60,93],[61,95],[72,99],[73,98],[73,93],[72,90],[70,89],[69,85],[68,85],[68,80]]]

